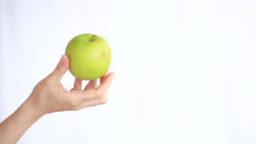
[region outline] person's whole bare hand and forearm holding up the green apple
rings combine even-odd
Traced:
[[[108,88],[114,72],[107,72],[100,80],[91,80],[83,89],[82,80],[75,78],[74,88],[68,91],[60,83],[68,69],[69,58],[63,55],[53,72],[37,83],[28,99],[0,123],[0,144],[16,144],[46,114],[77,111],[107,103]]]

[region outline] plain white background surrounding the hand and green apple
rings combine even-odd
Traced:
[[[82,33],[112,47],[108,103],[45,115],[18,144],[256,143],[255,0],[0,0],[0,121]]]

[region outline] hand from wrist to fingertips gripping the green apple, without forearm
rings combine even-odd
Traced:
[[[75,78],[74,88],[68,91],[60,83],[68,69],[69,59],[64,55],[54,71],[37,83],[33,89],[27,102],[32,104],[40,115],[80,110],[107,103],[108,88],[112,83],[114,72],[101,77],[99,86],[99,80],[91,80],[83,90],[82,80]]]

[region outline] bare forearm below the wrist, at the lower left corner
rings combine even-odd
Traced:
[[[16,144],[42,116],[37,113],[30,101],[25,101],[12,115],[0,123],[0,144]]]

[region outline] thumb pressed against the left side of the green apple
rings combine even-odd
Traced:
[[[57,81],[60,81],[68,69],[69,69],[69,58],[66,55],[62,55],[61,60],[57,64],[54,71],[51,73],[51,76]]]

